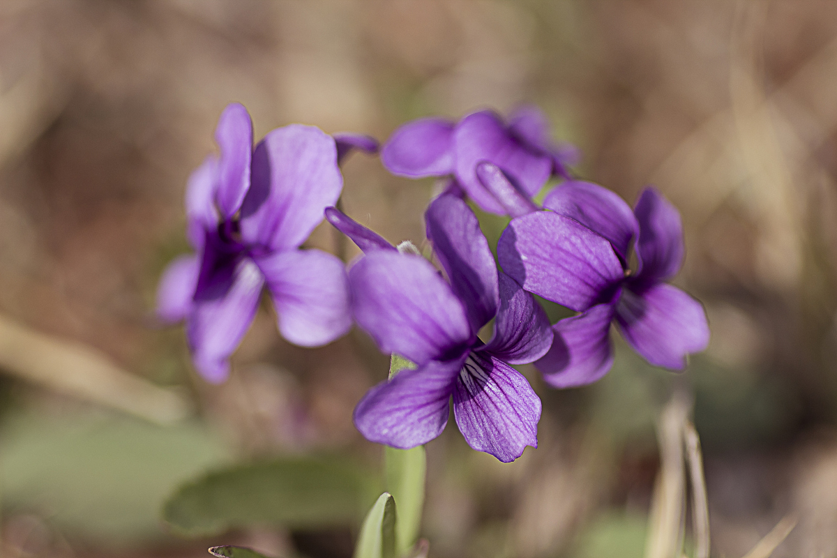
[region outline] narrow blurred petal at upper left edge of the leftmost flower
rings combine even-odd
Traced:
[[[208,156],[186,183],[186,237],[196,252],[203,249],[207,231],[218,228],[215,189],[218,187],[218,160]]]

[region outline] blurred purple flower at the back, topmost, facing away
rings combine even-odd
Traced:
[[[500,167],[528,196],[550,176],[569,179],[567,165],[578,161],[573,146],[556,146],[540,110],[516,110],[506,124],[499,115],[481,110],[459,122],[420,118],[398,128],[381,150],[388,171],[403,177],[453,177],[449,191],[464,192],[487,212],[506,214],[477,174],[481,161]]]

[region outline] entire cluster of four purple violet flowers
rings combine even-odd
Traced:
[[[383,146],[393,174],[447,180],[424,216],[431,260],[331,207],[341,157],[377,151],[374,140],[289,125],[253,149],[252,136],[244,107],[230,105],[216,131],[221,156],[208,157],[187,187],[196,254],[170,265],[158,293],[158,314],[186,320],[193,361],[210,381],[229,373],[266,285],[291,342],[328,343],[353,320],[381,351],[415,364],[358,403],[354,421],[367,439],[427,443],[444,429],[452,398],[470,446],[509,462],[537,447],[541,416],[512,365],[534,363],[553,387],[596,381],[614,361],[612,322],[656,366],[683,369],[706,347],[701,304],[665,283],[684,255],[675,207],[647,188],[631,209],[574,179],[568,166],[578,151],[550,141],[537,109],[508,122],[487,110],[459,122],[415,120]],[[552,177],[561,182],[539,207],[532,197]],[[511,217],[497,246],[501,269],[466,197]],[[299,248],[324,214],[362,249],[348,272],[330,254]],[[550,325],[533,294],[578,315]],[[486,342],[480,332],[489,325]]]

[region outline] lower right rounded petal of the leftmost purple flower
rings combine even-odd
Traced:
[[[340,259],[320,250],[256,258],[285,339],[299,346],[331,343],[352,327],[349,285]]]

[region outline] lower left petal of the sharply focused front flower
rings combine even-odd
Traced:
[[[448,423],[450,393],[464,360],[429,361],[372,387],[355,407],[355,427],[370,442],[393,448],[428,443]]]

